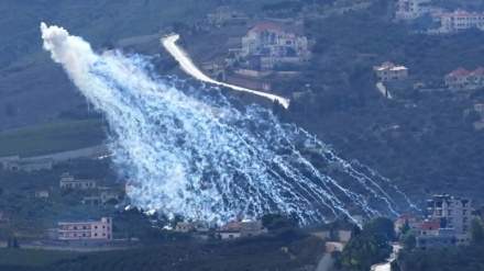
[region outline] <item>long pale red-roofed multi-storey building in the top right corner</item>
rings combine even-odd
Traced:
[[[451,13],[436,14],[440,18],[440,33],[451,33],[470,29],[484,30],[484,13],[457,10]]]

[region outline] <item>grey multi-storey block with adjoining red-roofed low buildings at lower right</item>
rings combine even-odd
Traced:
[[[428,216],[420,219],[413,214],[403,214],[395,222],[399,232],[404,224],[417,233],[417,248],[469,245],[472,219],[472,200],[455,197],[448,193],[433,195],[427,201]]]

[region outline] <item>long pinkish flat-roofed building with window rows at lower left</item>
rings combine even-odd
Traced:
[[[99,222],[61,222],[59,240],[112,240],[112,218],[102,217]]]

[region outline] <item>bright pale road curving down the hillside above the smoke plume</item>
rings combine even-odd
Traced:
[[[279,103],[284,106],[284,108],[288,108],[289,106],[289,100],[284,98],[284,97],[279,97],[279,95],[275,95],[275,94],[270,94],[270,93],[265,93],[265,92],[261,92],[261,91],[255,91],[255,90],[251,90],[251,89],[245,89],[245,88],[241,88],[238,86],[233,86],[233,84],[229,84],[229,83],[224,83],[224,82],[219,82],[216,81],[213,79],[211,79],[210,77],[204,75],[204,72],[201,72],[196,66],[195,64],[191,61],[191,59],[189,58],[189,56],[184,53],[177,45],[176,45],[176,41],[178,41],[179,35],[170,35],[167,37],[162,38],[162,44],[163,47],[165,47],[165,49],[173,56],[175,57],[175,59],[179,63],[179,65],[182,66],[182,69],[185,70],[185,72],[187,72],[188,75],[205,81],[205,82],[210,82],[210,83],[215,83],[215,84],[219,84],[219,86],[223,86],[223,87],[228,87],[234,90],[239,90],[239,91],[245,91],[245,92],[250,92],[256,95],[261,95],[261,97],[265,97],[268,98],[271,100],[278,100]]]

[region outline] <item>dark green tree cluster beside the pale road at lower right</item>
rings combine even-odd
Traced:
[[[393,221],[387,217],[376,217],[355,228],[354,236],[336,260],[336,268],[344,270],[370,270],[375,263],[383,262],[393,251],[389,241],[395,241],[396,235]]]

